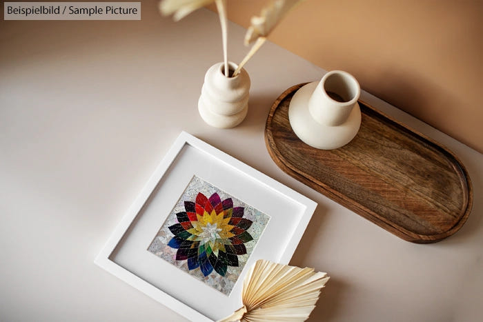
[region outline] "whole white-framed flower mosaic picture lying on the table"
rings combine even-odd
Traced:
[[[242,306],[258,259],[288,263],[316,203],[182,132],[95,263],[192,321]]]

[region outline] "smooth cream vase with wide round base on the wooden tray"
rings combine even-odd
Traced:
[[[319,82],[294,94],[288,119],[297,137],[317,149],[332,150],[349,143],[359,131],[360,87],[348,72],[333,70]]]

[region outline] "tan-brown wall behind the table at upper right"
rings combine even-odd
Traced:
[[[267,1],[228,1],[247,27]],[[483,152],[483,1],[306,0],[269,37]]]

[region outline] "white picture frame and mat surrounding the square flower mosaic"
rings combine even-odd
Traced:
[[[270,216],[229,296],[147,250],[193,175]],[[315,201],[181,132],[95,263],[191,321],[215,321],[242,306],[243,279],[257,259],[290,261],[316,207]]]

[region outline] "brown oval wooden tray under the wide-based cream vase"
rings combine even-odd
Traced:
[[[290,99],[302,85],[280,95],[266,121],[266,146],[279,168],[406,241],[434,243],[462,227],[473,188],[453,152],[363,101],[353,141],[312,148],[288,121]]]

